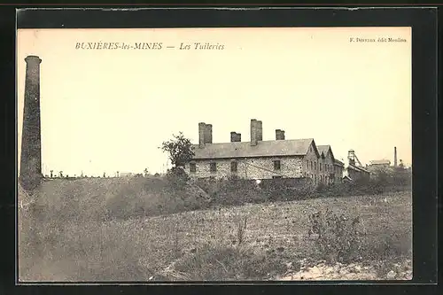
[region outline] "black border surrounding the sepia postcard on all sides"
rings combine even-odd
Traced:
[[[105,7],[105,6],[104,6]],[[350,6],[349,6],[350,7]],[[11,9],[10,9],[11,8]],[[58,289],[58,286],[15,286],[16,249],[15,242],[15,204],[16,204],[16,97],[15,97],[15,8],[9,7],[0,24],[6,24],[8,38],[3,43],[1,57],[4,61],[0,63],[4,67],[6,79],[3,89],[4,93],[4,119],[6,123],[5,158],[8,167],[7,193],[2,198],[5,213],[3,229],[6,233],[8,252],[4,252],[4,286],[14,288],[14,291],[85,291],[99,290],[107,292],[118,291],[173,291],[169,286],[155,286],[153,283],[144,287],[117,286],[110,289],[105,286],[72,286],[68,290]],[[25,7],[21,7],[25,8]],[[82,6],[82,8],[84,8]],[[250,9],[250,10],[214,10],[209,7],[191,7],[190,9],[155,9],[134,11],[102,10],[91,6],[93,10],[25,10],[17,13],[18,28],[104,28],[104,27],[412,27],[412,131],[413,131],[413,271],[414,279],[409,282],[380,282],[370,283],[369,288],[364,290],[371,293],[380,289],[389,288],[389,292],[404,292],[405,287],[401,284],[429,284],[437,283],[437,9],[431,7],[401,7],[401,8],[361,8],[359,10],[348,10],[344,7],[330,7],[322,9],[284,9],[274,7],[272,9]],[[119,8],[107,7],[107,8]],[[128,8],[128,7],[124,7]],[[13,13],[13,14],[12,14]],[[3,15],[2,15],[3,17]],[[2,19],[0,17],[0,19]],[[258,61],[260,62],[260,61]],[[140,283],[140,282],[138,282]],[[215,282],[214,282],[215,283]],[[233,282],[239,283],[239,282]],[[249,284],[250,282],[248,282]],[[358,287],[359,282],[346,282],[346,289]],[[366,282],[360,282],[366,283]],[[24,284],[24,283],[23,283]],[[116,284],[116,283],[112,283]],[[179,283],[177,285],[181,285]],[[192,284],[192,283],[188,283]],[[222,283],[216,283],[222,284]],[[264,291],[265,283],[255,282],[254,289]],[[289,287],[303,285],[309,291],[327,290],[342,292],[342,288],[332,288],[331,284],[320,282],[303,283],[269,283],[284,285],[283,290],[293,291]],[[325,284],[328,284],[326,286]],[[357,284],[357,285],[356,285]],[[393,284],[385,287],[380,284]],[[351,285],[351,286],[349,286]],[[378,285],[378,286],[376,286]],[[209,287],[209,286],[208,286]],[[141,289],[140,289],[141,288]],[[183,288],[183,287],[182,287]],[[182,289],[179,288],[179,289]],[[193,291],[201,287],[194,285]],[[245,289],[243,286],[229,286],[228,290],[235,288],[237,291]],[[416,287],[408,287],[408,290]],[[7,288],[11,290],[10,288]],[[105,289],[105,290],[104,290]],[[177,288],[175,287],[174,291]],[[358,289],[361,289],[358,288]],[[97,290],[97,291],[98,291]],[[303,289],[305,290],[305,289]],[[400,291],[401,290],[401,291]],[[429,290],[429,289],[428,289]],[[203,291],[213,291],[204,289]],[[243,290],[244,292],[245,290]],[[276,290],[273,290],[275,292]],[[361,292],[361,290],[358,290]],[[353,292],[353,293],[354,293]],[[423,291],[422,291],[423,292]],[[5,292],[6,293],[6,290]],[[8,292],[9,293],[9,292]],[[363,293],[365,293],[363,291]]]

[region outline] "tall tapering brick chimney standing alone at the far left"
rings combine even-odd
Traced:
[[[42,175],[42,137],[40,123],[40,63],[42,59],[27,56],[23,129],[19,182],[23,189],[34,190]]]

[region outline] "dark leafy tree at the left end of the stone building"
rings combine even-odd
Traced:
[[[193,146],[190,140],[183,136],[183,132],[180,132],[178,136],[173,136],[173,139],[163,142],[160,149],[168,153],[173,167],[181,167],[194,157]]]

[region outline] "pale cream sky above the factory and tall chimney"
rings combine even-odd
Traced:
[[[406,42],[355,42],[383,37]],[[99,42],[162,48],[76,49]],[[17,50],[18,151],[24,58],[43,60],[45,175],[162,173],[163,141],[183,132],[198,144],[198,122],[213,125],[214,143],[230,131],[249,141],[251,119],[262,120],[263,140],[280,128],[330,144],[337,159],[354,149],[362,164],[393,162],[396,146],[412,162],[410,27],[19,29]]]

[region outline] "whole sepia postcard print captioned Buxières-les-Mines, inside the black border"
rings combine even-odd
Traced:
[[[412,280],[411,42],[19,28],[19,283]]]

